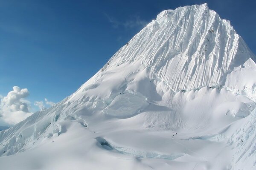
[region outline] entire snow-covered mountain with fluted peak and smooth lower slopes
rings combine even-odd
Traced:
[[[1,167],[256,169],[255,59],[207,4],[162,11],[74,94],[1,131]]]

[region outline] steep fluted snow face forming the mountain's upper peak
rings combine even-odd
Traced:
[[[140,61],[177,91],[224,85],[227,74],[250,57],[230,22],[203,4],[161,12],[109,63]]]

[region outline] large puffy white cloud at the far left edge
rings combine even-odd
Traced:
[[[28,95],[28,89],[14,86],[13,91],[10,91],[7,96],[1,97],[0,122],[15,125],[30,116],[32,113],[29,112],[29,102],[24,99]]]

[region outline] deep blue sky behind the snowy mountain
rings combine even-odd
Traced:
[[[17,85],[32,103],[59,102],[160,11],[202,3],[256,54],[253,0],[0,0],[0,95]]]

